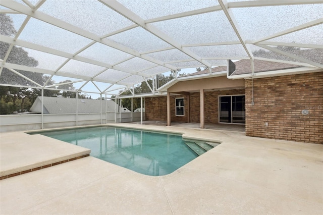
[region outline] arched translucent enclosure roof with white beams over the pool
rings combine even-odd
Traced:
[[[248,60],[250,76],[256,60],[323,68],[321,0],[2,0],[0,5],[1,85],[49,89],[58,86],[50,80],[61,78],[76,90],[114,94],[157,74],[227,66],[228,60]]]

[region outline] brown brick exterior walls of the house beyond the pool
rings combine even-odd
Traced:
[[[273,65],[273,62],[271,64]],[[279,64],[274,63],[274,66],[284,66]],[[289,65],[285,64],[286,66]],[[295,68],[295,65],[293,67]],[[223,68],[217,68],[219,71],[221,69]],[[207,78],[199,83],[201,89],[204,87],[202,92],[205,123],[219,123],[219,96],[245,95],[246,136],[323,143],[323,72],[245,79],[242,88],[234,89],[231,86],[230,89],[217,89],[216,80],[223,82],[224,78],[226,77],[213,78],[212,87],[206,82]],[[171,122],[201,122],[200,92],[196,92],[196,89],[189,91],[193,82],[177,83],[181,84],[182,88],[187,86],[189,93],[171,94]],[[174,85],[175,88],[177,84]],[[176,97],[184,98],[186,114],[183,117],[175,116]],[[147,97],[145,107],[146,120],[167,120],[167,96]],[[308,110],[309,113],[304,115],[302,110]]]

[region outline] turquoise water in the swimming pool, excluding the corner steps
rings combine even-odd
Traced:
[[[167,175],[197,157],[181,135],[114,127],[39,132],[91,149],[90,155],[149,176]]]

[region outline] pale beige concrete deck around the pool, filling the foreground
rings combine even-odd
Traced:
[[[0,213],[321,214],[323,211],[321,144],[246,137],[243,132],[233,131],[108,125],[179,132],[186,138],[222,143],[166,176],[145,176],[87,156],[3,179]],[[23,132],[1,133],[0,138],[1,171],[12,162],[18,166],[33,163],[47,153],[64,157],[68,156],[66,151],[86,152],[84,148],[41,135],[29,139]],[[47,142],[51,145],[41,147]],[[33,156],[26,156],[22,150],[26,144]],[[4,145],[8,147],[6,150]],[[16,162],[16,159],[24,160]]]

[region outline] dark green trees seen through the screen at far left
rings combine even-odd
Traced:
[[[13,21],[6,14],[0,14],[0,33],[5,36],[14,36],[17,31],[13,26]],[[0,59],[4,60],[10,44],[0,42]],[[28,67],[37,67],[38,61],[28,56],[28,52],[21,47],[13,46],[6,63],[18,64]],[[35,81],[39,85],[44,85],[49,77],[41,73],[27,72],[17,70],[23,76]],[[67,83],[59,85],[57,90],[44,89],[44,96],[61,96],[67,98],[75,98],[76,93],[69,90],[75,90],[73,83],[70,80],[62,81]],[[3,68],[0,76],[0,83],[21,85],[26,87],[10,87],[0,86],[0,114],[13,114],[14,112],[28,112],[37,96],[41,96],[41,89],[33,89],[36,86],[34,83],[27,79],[13,73],[7,68]],[[49,80],[47,85],[54,85],[55,81]],[[86,94],[78,95],[79,98],[89,98]]]

